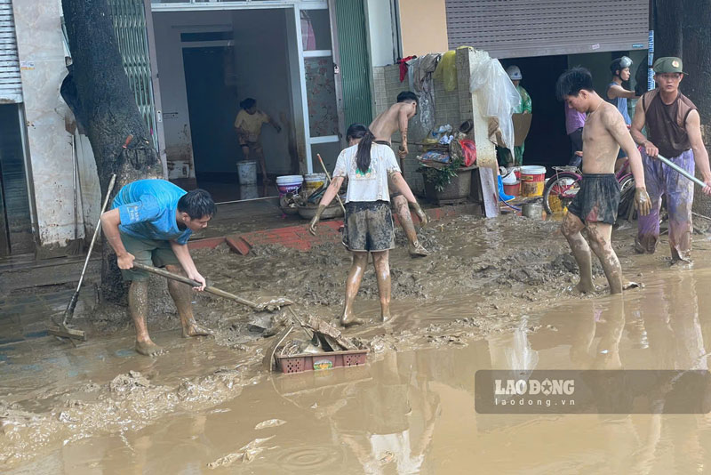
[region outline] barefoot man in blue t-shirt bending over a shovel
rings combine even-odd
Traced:
[[[146,326],[148,314],[148,272],[132,269],[133,262],[165,267],[201,284],[205,279],[197,271],[188,251],[193,231],[207,228],[216,211],[210,193],[204,189],[186,192],[164,180],[133,181],[120,189],[113,209],[101,214],[101,228],[116,251],[116,261],[124,280],[131,281],[129,312],[136,326],[136,351],[154,356],[162,351],[151,341]],[[189,287],[168,280],[168,291],[180,315],[183,336],[212,334],[197,325],[190,305]]]

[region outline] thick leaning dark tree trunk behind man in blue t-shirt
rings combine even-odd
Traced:
[[[108,0],[62,0],[62,9],[73,61],[62,91],[76,92],[67,102],[92,143],[102,194],[112,173],[114,194],[131,181],[162,178],[160,158],[124,71]],[[124,286],[106,241],[103,258],[102,297],[116,302],[123,299]]]

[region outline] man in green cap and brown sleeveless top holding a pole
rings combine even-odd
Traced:
[[[707,195],[711,195],[711,168],[701,140],[699,111],[679,92],[684,75],[682,60],[659,58],[653,68],[659,87],[645,93],[637,102],[630,131],[642,146],[644,181],[651,197],[651,213],[640,216],[638,221],[635,250],[640,254],[654,253],[659,242],[661,196],[666,194],[672,263],[691,262],[693,182],[655,157],[661,155],[691,174],[694,174],[694,164],[699,166],[707,184],[703,192]],[[646,136],[642,133],[644,127]]]

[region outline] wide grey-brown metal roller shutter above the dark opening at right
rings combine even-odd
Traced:
[[[446,0],[450,48],[496,58],[646,49],[648,0]]]

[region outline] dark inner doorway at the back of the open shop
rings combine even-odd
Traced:
[[[232,46],[183,48],[197,186],[216,201],[237,199],[236,85],[228,81]]]

